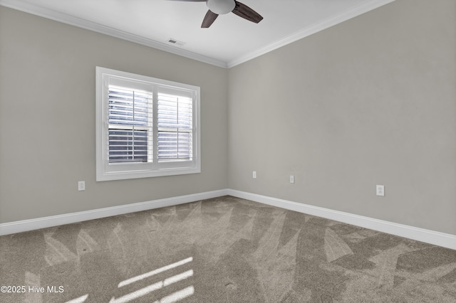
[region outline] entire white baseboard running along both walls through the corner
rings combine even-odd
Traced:
[[[256,193],[247,193],[245,191],[236,191],[234,189],[221,189],[219,191],[206,191],[204,193],[194,193],[186,196],[177,196],[172,198],[164,198],[154,201],[126,204],[123,206],[113,206],[108,208],[99,208],[93,211],[81,211],[78,213],[66,213],[58,216],[49,216],[44,218],[36,218],[30,220],[21,220],[10,223],[0,224],[0,235],[9,235],[12,233],[21,233],[28,230],[36,230],[39,228],[48,228],[57,225],[76,223],[86,220],[105,218],[110,216],[123,215],[125,213],[134,213],[135,211],[147,211],[148,209],[160,208],[166,206],[175,206],[183,203],[190,203],[209,198],[217,198],[220,196],[234,196],[247,200],[264,203],[279,208],[297,211],[299,213],[307,213],[312,216],[318,216],[330,220],[336,220],[342,223],[360,226],[378,230],[391,235],[418,240],[433,245],[442,246],[456,250],[456,235],[448,233],[440,233],[424,228],[415,228],[409,225],[392,223],[384,220],[368,218],[351,213],[343,213],[342,211],[333,211],[328,208],[318,206],[310,206],[304,203],[271,198],[268,196],[257,195]]]

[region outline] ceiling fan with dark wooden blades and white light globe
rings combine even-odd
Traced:
[[[263,17],[258,14],[249,6],[242,4],[236,0],[170,0],[170,1],[185,1],[185,2],[206,2],[207,8],[209,9],[204,16],[201,27],[208,28],[214,23],[215,19],[219,15],[228,14],[230,11],[237,16],[259,23],[263,20]]]

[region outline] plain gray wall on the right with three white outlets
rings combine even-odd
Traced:
[[[229,188],[455,235],[455,4],[398,0],[231,68]]]

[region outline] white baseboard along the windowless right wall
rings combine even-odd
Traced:
[[[451,248],[453,250],[456,250],[456,235],[450,235],[449,233],[440,233],[437,231],[427,230],[424,228],[415,228],[409,225],[403,225],[384,220],[353,215],[351,213],[343,213],[342,211],[332,211],[328,208],[310,206],[304,203],[286,201],[278,198],[257,195],[255,193],[246,193],[244,191],[235,191],[234,189],[229,189],[228,194],[230,196],[234,196],[237,198],[244,198],[250,201],[285,208],[290,211],[307,213],[312,216],[318,216],[321,218],[335,220],[342,223],[348,223],[351,225],[360,226],[362,228],[377,230],[382,233],[398,235],[403,238],[418,240],[421,242],[430,243],[433,245],[442,246],[444,248]]]

